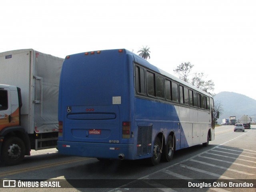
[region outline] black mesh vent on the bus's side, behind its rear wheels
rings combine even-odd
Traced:
[[[152,125],[138,126],[137,157],[151,153]]]

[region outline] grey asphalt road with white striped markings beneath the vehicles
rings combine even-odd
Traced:
[[[171,162],[161,162],[158,166],[149,166],[141,160],[99,162],[95,158],[62,156],[56,149],[32,151],[32,156],[26,156],[20,165],[0,165],[1,182],[15,180],[17,185],[24,180],[28,187],[28,182],[30,185],[39,182],[40,186],[41,181],[48,185],[54,181],[61,188],[0,188],[0,191],[256,192],[255,185],[229,188],[230,184],[256,181],[256,126],[245,132],[234,132],[233,128],[216,127],[215,140],[208,147],[197,145],[178,150]]]

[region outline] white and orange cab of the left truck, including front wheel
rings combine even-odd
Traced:
[[[0,84],[0,160],[7,165],[18,164],[30,155],[28,135],[20,126],[21,107],[20,88]]]

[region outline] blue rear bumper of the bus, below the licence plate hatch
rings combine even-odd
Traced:
[[[134,144],[108,144],[88,142],[58,141],[60,154],[109,159],[137,159],[134,154]]]

